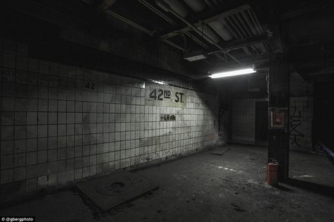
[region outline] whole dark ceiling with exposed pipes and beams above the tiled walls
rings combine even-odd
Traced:
[[[272,37],[282,39],[290,67],[302,78],[333,73],[331,1],[25,1],[28,5],[27,2],[52,8],[64,16],[76,16],[73,23],[85,24],[90,32],[103,30],[145,44],[165,42],[184,58],[195,60],[184,60],[187,66],[197,70],[193,78],[240,63],[266,67],[270,54],[275,51],[270,43]],[[166,11],[164,6],[172,10]]]

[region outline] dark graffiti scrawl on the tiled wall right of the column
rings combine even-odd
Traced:
[[[300,111],[297,111],[296,106],[292,106],[292,109],[294,111],[290,116],[290,144],[300,147],[301,144],[299,144],[299,140],[304,137],[304,134],[299,131],[300,125],[302,124],[302,113]]]

